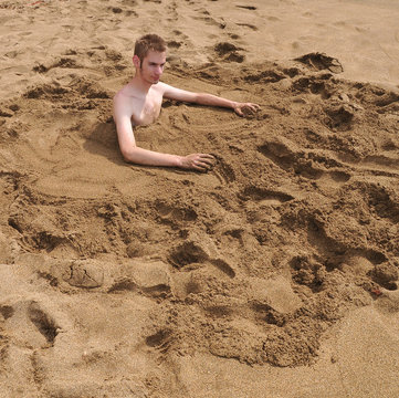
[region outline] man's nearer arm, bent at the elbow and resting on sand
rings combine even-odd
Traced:
[[[207,171],[213,166],[213,156],[207,154],[178,156],[139,148],[136,145],[130,118],[132,111],[127,105],[126,97],[117,94],[114,97],[114,121],[119,149],[126,161],[147,166],[180,167],[198,171]]]

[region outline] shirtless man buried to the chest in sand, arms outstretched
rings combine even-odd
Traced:
[[[182,169],[208,171],[214,164],[209,154],[178,156],[139,148],[133,133],[134,126],[148,125],[159,116],[162,98],[233,109],[256,112],[259,105],[238,103],[211,94],[191,93],[159,82],[166,63],[166,42],[156,34],[147,34],[135,44],[134,78],[114,97],[114,121],[120,153],[126,161],[148,166],[171,166]]]

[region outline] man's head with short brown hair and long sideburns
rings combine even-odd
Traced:
[[[166,63],[166,42],[157,34],[146,34],[135,44],[133,63],[137,74],[147,83],[156,84]]]

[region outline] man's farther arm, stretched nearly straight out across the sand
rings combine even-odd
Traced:
[[[244,116],[243,111],[245,109],[249,109],[250,112],[256,112],[260,109],[260,106],[253,103],[239,103],[212,94],[192,93],[186,90],[172,87],[168,84],[164,84],[164,96],[167,98],[196,103],[200,105],[228,107],[233,109],[240,116]]]

